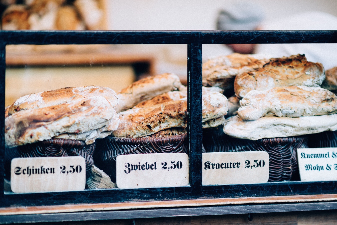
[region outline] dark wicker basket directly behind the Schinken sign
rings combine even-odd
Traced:
[[[94,164],[93,153],[96,142],[86,145],[84,141],[72,139],[49,139],[31,144],[20,145],[14,148],[6,148],[5,165],[6,178],[10,177],[10,161],[13,158],[30,157],[67,157],[82,156],[86,162],[86,178],[91,175],[91,167]],[[9,168],[8,168],[9,167]]]

